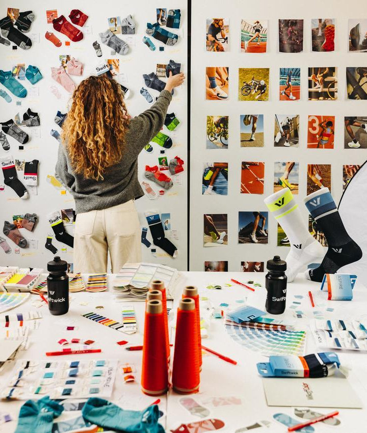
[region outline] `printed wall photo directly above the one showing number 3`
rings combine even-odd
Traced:
[[[308,68],[308,100],[332,101],[337,99],[337,68]]]

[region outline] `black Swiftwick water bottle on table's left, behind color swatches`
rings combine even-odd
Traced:
[[[47,263],[48,309],[59,316],[69,311],[69,277],[66,275],[67,262],[59,256]]]

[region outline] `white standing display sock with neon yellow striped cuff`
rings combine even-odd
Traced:
[[[290,240],[291,250],[285,259],[285,274],[288,281],[292,282],[302,267],[324,256],[323,248],[308,232],[289,188],[272,194],[264,201]]]

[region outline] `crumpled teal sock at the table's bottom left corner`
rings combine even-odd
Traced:
[[[63,410],[64,407],[50,400],[48,395],[38,401],[27,400],[20,408],[18,425],[14,433],[50,433],[54,418]]]

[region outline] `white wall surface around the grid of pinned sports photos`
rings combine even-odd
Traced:
[[[361,164],[366,159],[365,149],[344,149],[344,116],[366,116],[366,101],[346,99],[346,67],[365,66],[365,53],[348,52],[348,18],[363,15],[365,4],[356,0],[353,7],[342,0],[317,2],[288,2],[262,0],[243,2],[232,0],[202,0],[193,2],[192,10],[192,87],[191,87],[191,232],[190,269],[203,270],[205,260],[227,260],[228,270],[240,270],[241,261],[266,261],[274,254],[285,258],[288,248],[276,247],[277,227],[269,218],[269,244],[238,244],[238,212],[267,210],[264,198],[273,193],[274,161],[300,163],[299,195],[296,201],[307,222],[307,211],[302,204],[306,195],[307,164],[331,164],[332,195],[338,202],[342,194],[343,164]],[[311,19],[335,18],[334,52],[311,51]],[[206,18],[229,18],[230,49],[228,52],[206,52]],[[301,53],[278,52],[278,19],[304,19],[304,46]],[[267,53],[245,53],[240,49],[241,19],[268,19]],[[205,67],[229,66],[229,99],[205,100]],[[307,68],[309,66],[338,67],[338,100],[307,101]],[[240,102],[238,100],[238,68],[269,67],[270,98],[267,102]],[[301,100],[279,101],[279,68],[301,68]],[[264,114],[264,148],[240,147],[240,115]],[[275,148],[273,145],[274,115],[300,115],[300,142],[298,148]],[[228,149],[205,149],[206,116],[229,116]],[[333,150],[307,149],[308,115],[335,116],[335,143]],[[228,195],[203,196],[201,193],[202,166],[206,161],[228,162]],[[241,161],[265,161],[264,195],[240,194]],[[203,214],[228,214],[228,245],[203,248]]]

